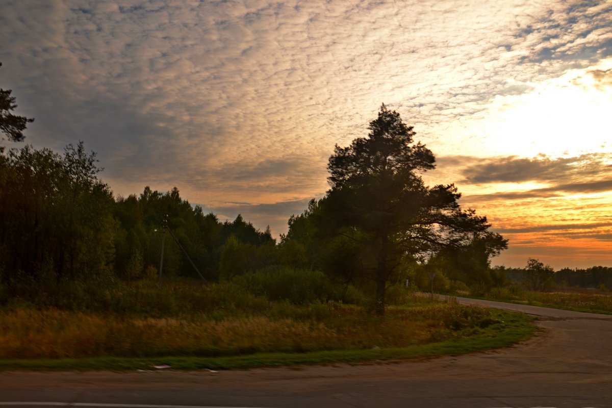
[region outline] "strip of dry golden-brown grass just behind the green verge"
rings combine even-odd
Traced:
[[[297,306],[295,306],[297,308]],[[61,310],[0,312],[0,358],[237,355],[406,347],[473,332],[488,312],[452,303],[390,308],[377,319],[356,306],[321,305],[318,319],[121,317]]]

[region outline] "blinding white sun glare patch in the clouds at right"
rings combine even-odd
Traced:
[[[612,86],[593,75],[610,69],[612,59],[526,84],[532,91],[523,95],[494,98],[490,115],[476,125],[485,138],[479,153],[559,157],[611,150]]]

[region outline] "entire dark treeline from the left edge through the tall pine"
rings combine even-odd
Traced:
[[[435,157],[414,142],[412,127],[382,105],[368,128],[367,137],[335,147],[330,190],[289,218],[278,243],[241,216],[204,214],[176,188],[113,197],[83,143],[63,155],[0,148],[0,294],[154,278],[166,224],[164,275],[231,281],[278,268],[316,271],[344,294],[367,294],[379,315],[406,287],[483,294],[506,284],[490,259],[507,240],[461,208],[454,185],[424,184],[420,174],[435,168]]]

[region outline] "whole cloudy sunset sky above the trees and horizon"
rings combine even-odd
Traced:
[[[0,41],[25,143],[84,141],[116,196],[277,236],[384,103],[509,239],[493,264],[612,267],[611,1],[2,0]]]

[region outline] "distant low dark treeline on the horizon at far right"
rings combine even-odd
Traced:
[[[524,281],[523,268],[498,267],[498,270],[506,272],[510,281]],[[594,266],[587,269],[564,268],[552,274],[553,281],[558,286],[565,287],[592,287],[599,289],[612,289],[612,268],[605,266]]]

